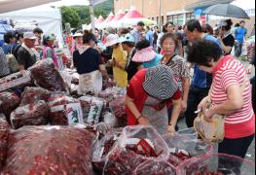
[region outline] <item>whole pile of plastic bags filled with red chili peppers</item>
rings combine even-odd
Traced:
[[[151,126],[126,126],[125,90],[111,83],[79,95],[78,74],[58,72],[50,59],[0,82],[1,174],[255,172],[251,162],[214,154],[194,129],[160,135]]]

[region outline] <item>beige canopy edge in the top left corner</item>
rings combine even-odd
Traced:
[[[12,11],[18,11],[42,4],[47,4],[59,0],[0,0],[0,14]]]

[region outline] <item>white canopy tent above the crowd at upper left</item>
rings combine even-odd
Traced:
[[[16,12],[0,14],[0,18],[13,18],[17,21],[36,22],[38,26],[43,29],[44,33],[53,32],[59,42],[63,42],[61,29],[61,13],[59,9],[51,7],[29,8]]]

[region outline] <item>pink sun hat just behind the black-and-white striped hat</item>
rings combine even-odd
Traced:
[[[133,57],[132,61],[134,62],[148,62],[153,60],[156,57],[156,52],[152,47],[148,47],[142,50],[137,51]]]

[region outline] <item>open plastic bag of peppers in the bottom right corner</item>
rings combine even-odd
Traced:
[[[226,175],[255,174],[255,163],[224,154],[207,154],[193,157],[177,167],[177,174]]]

